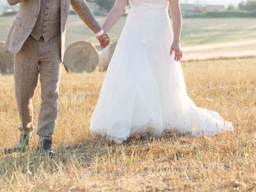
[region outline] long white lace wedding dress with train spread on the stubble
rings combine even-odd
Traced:
[[[192,136],[232,131],[214,111],[188,97],[173,40],[168,0],[129,0],[130,13],[108,66],[90,130],[108,141],[178,130]]]

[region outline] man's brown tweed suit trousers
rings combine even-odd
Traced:
[[[29,134],[34,129],[32,98],[40,75],[42,102],[36,131],[39,143],[44,139],[52,142],[58,114],[61,66],[60,34],[47,42],[29,36],[21,50],[14,54],[15,96],[21,134]]]

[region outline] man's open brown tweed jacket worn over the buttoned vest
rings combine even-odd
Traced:
[[[7,0],[10,5],[20,3],[17,16],[12,22],[4,47],[17,53],[31,34],[40,11],[41,0]],[[63,61],[64,44],[66,38],[66,22],[70,4],[80,19],[94,32],[98,33],[102,27],[95,19],[85,0],[61,0],[60,30],[61,30],[61,58]]]

